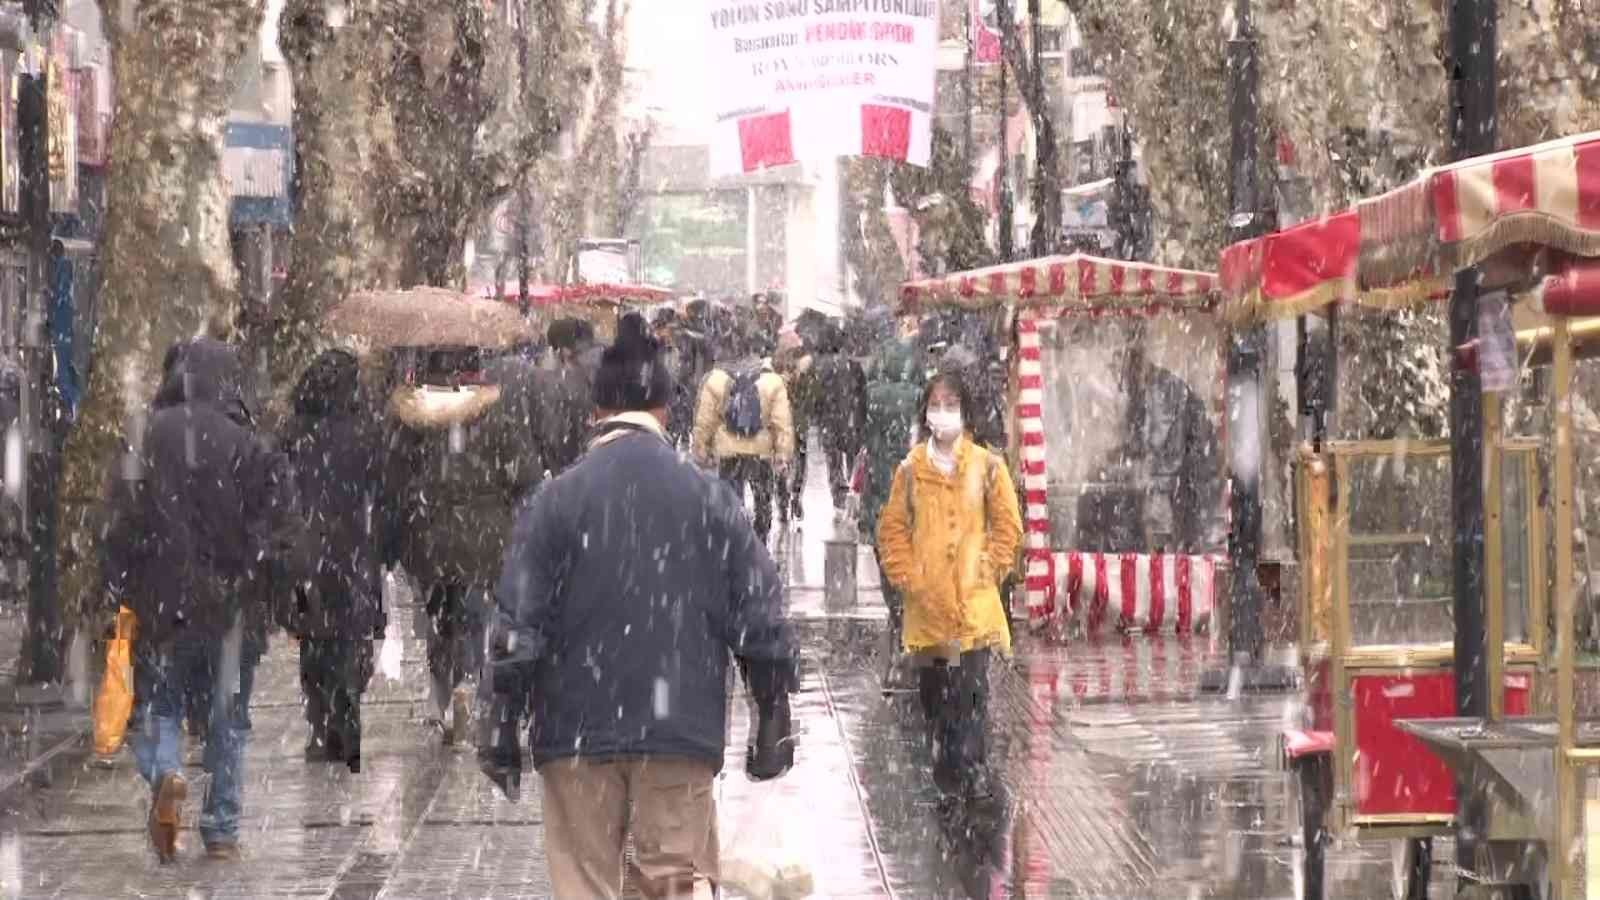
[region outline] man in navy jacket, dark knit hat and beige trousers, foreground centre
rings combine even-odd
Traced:
[[[480,764],[517,793],[531,700],[552,895],[619,897],[632,838],[640,892],[688,897],[717,873],[730,655],[762,716],[746,767],[773,778],[794,762],[795,639],[742,504],[667,442],[672,376],[635,315],[594,400],[589,452],[518,514],[506,549]]]

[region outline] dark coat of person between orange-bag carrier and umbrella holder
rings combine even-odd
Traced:
[[[294,468],[309,573],[278,596],[278,623],[310,639],[382,636],[382,434],[360,400],[354,356],[330,351],[310,365],[282,447]]]

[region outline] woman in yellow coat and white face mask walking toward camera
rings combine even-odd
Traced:
[[[920,669],[934,783],[987,796],[989,658],[1011,653],[1000,581],[1022,541],[1005,458],[973,442],[976,405],[955,373],[928,381],[918,444],[878,514],[883,573],[906,597],[904,647]]]

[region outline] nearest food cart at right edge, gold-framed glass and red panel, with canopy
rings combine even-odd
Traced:
[[[1283,759],[1301,806],[1304,897],[1323,895],[1334,836],[1392,839],[1394,894],[1426,897],[1430,838],[1454,831],[1458,783],[1482,810],[1461,897],[1586,895],[1581,785],[1600,762],[1600,729],[1574,721],[1570,319],[1600,314],[1600,277],[1582,261],[1600,256],[1597,213],[1600,135],[1582,135],[1429,170],[1224,251],[1230,312],[1261,319],[1440,303],[1454,272],[1477,266],[1483,338],[1453,360],[1501,375],[1483,405],[1486,719],[1456,717],[1450,445],[1334,440],[1298,453],[1306,703]],[[1523,301],[1507,306],[1499,291]],[[1546,327],[1496,341],[1512,319]],[[1502,392],[1536,359],[1554,362],[1550,389],[1518,399],[1544,407],[1546,432],[1507,437]]]

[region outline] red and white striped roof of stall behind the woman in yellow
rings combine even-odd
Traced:
[[[1210,309],[1216,303],[1216,275],[1210,272],[1074,253],[906,282],[901,287],[901,312],[952,306],[984,309],[1005,303],[1082,309]]]

